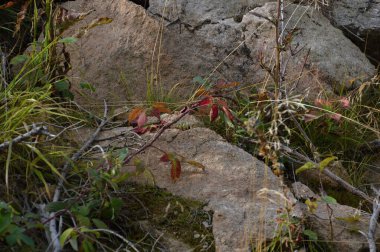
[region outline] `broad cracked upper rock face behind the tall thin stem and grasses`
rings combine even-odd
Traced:
[[[77,12],[96,10],[66,36],[96,17],[113,19],[68,49],[74,91],[80,82],[90,82],[97,88],[92,102],[108,98],[122,105],[128,94],[144,98],[148,85],[156,90],[179,85],[178,93],[189,95],[195,76],[247,85],[272,81],[260,59],[273,66],[274,26],[268,20],[276,15],[276,3],[257,7],[261,1],[167,1],[159,14],[163,2],[151,1],[148,11],[129,1],[65,3]],[[287,89],[331,92],[374,74],[360,50],[313,8],[290,4],[286,17],[287,34],[293,31],[292,50],[284,53]],[[78,99],[89,103],[87,98]]]

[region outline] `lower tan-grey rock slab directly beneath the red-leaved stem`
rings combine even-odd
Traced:
[[[103,132],[100,139],[116,139],[113,135],[120,136],[126,130]],[[153,135],[143,138],[150,139]],[[99,144],[105,149],[119,146],[117,141],[109,140]],[[209,129],[168,129],[153,145],[156,148],[148,148],[139,159],[149,167],[157,186],[207,203],[207,210],[214,212],[216,251],[249,251],[251,246],[270,240],[276,233],[275,219],[280,215],[277,211],[295,203],[293,195],[270,168]],[[174,153],[182,160],[181,177],[175,183],[170,177],[170,164],[160,162],[162,151]],[[205,172],[185,159],[202,164]],[[128,166],[125,170],[133,168]],[[152,182],[147,177],[137,180]]]

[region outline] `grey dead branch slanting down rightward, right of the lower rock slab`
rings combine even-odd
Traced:
[[[295,150],[289,148],[288,146],[285,146],[285,145],[281,144],[280,148],[281,148],[281,150],[283,150],[283,151],[285,151],[285,152],[287,152],[289,154],[293,154],[293,155],[297,156],[298,158],[304,160],[305,162],[310,162],[310,163],[313,163],[313,164],[317,165],[317,163],[314,162],[313,160],[311,160],[309,157],[307,157],[307,156],[299,153],[298,151],[295,151]],[[358,188],[352,186],[351,184],[349,184],[344,179],[342,179],[339,176],[335,175],[328,168],[323,169],[323,174],[325,174],[326,176],[328,176],[330,179],[332,179],[333,181],[335,181],[336,183],[338,183],[339,185],[341,185],[344,189],[346,189],[347,191],[351,192],[352,194],[355,194],[355,195],[363,198],[364,200],[366,200],[368,202],[372,202],[373,199],[371,197],[369,197],[367,194],[365,194],[364,192],[362,192]]]

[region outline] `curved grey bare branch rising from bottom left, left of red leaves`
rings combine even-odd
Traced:
[[[101,123],[99,124],[99,126],[96,129],[96,131],[94,132],[94,134],[92,134],[92,136],[85,142],[85,144],[76,153],[74,153],[74,155],[70,158],[70,160],[67,160],[66,163],[64,164],[64,166],[62,168],[62,174],[61,174],[62,176],[59,179],[58,184],[57,184],[57,188],[54,191],[54,196],[53,196],[52,202],[59,201],[59,197],[61,195],[61,190],[63,187],[63,182],[64,182],[64,179],[66,177],[68,170],[71,168],[72,163],[77,161],[82,156],[82,154],[88,148],[90,148],[92,143],[95,141],[96,137],[99,135],[102,128],[108,122],[107,115],[108,115],[108,106],[107,106],[106,101],[104,101],[104,116],[103,116]],[[57,230],[56,213],[54,213],[54,212],[50,213],[49,218],[50,218],[49,231],[50,231],[51,242],[53,244],[53,251],[58,252],[58,251],[61,251],[62,248],[61,248],[61,245],[59,243],[60,232],[59,232],[59,230]]]

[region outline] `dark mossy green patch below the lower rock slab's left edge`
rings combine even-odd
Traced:
[[[125,193],[116,194],[128,202],[128,206],[120,216],[127,216],[123,221],[131,227],[128,236],[147,243],[145,248],[151,248],[155,241],[146,237],[146,232],[153,230],[153,234],[163,235],[163,245],[169,236],[185,242],[194,251],[215,251],[212,212],[205,211],[203,203],[152,186],[129,184],[123,191]]]

